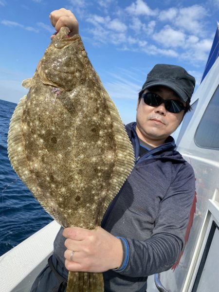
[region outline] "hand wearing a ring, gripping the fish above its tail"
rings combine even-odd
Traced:
[[[123,258],[121,240],[103,228],[70,227],[64,229],[63,236],[67,237],[64,256],[69,271],[101,273],[120,267]]]

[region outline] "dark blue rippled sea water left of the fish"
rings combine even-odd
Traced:
[[[16,106],[0,100],[0,256],[53,220],[8,159],[7,133]]]

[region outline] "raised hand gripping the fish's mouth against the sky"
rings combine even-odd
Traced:
[[[50,21],[57,32],[59,32],[62,26],[67,26],[70,29],[70,37],[78,34],[77,19],[70,10],[66,10],[65,8],[54,10],[50,14]],[[51,39],[54,37],[54,35],[51,36]]]

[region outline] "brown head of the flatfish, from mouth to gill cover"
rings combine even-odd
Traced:
[[[86,80],[85,50],[79,50],[80,37],[68,37],[69,29],[62,27],[40,60],[37,71],[44,84],[72,91]]]

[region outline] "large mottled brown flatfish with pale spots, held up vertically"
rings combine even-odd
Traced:
[[[119,113],[79,35],[63,27],[23,86],[8,155],[43,208],[64,227],[100,225],[134,164]],[[102,292],[101,273],[69,273],[67,292]]]

